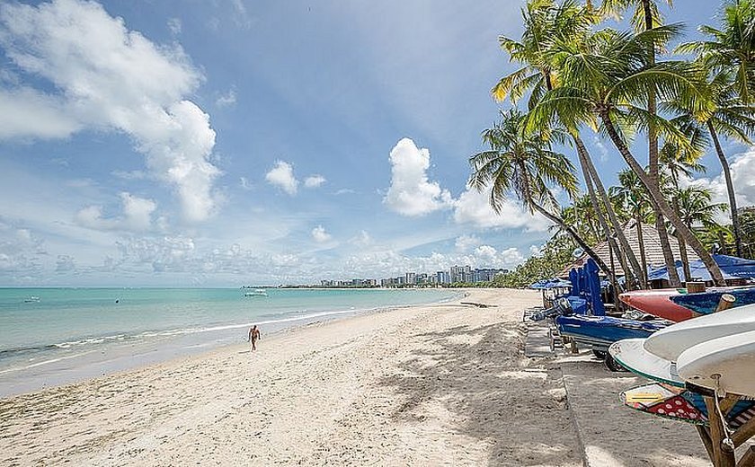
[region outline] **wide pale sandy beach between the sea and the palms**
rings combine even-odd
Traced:
[[[263,334],[253,353],[238,344],[4,398],[0,464],[708,464],[693,427],[621,406],[640,378],[524,357],[521,312],[539,303],[474,289]]]

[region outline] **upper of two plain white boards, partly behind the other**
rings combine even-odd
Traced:
[[[654,332],[644,348],[656,357],[676,362],[680,354],[706,340],[755,330],[755,304],[706,314]]]

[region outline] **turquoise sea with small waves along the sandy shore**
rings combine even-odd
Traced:
[[[245,342],[308,322],[448,301],[447,289],[0,288],[0,396]]]

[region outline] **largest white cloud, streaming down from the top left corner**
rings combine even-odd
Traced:
[[[102,5],[82,0],[4,4],[0,45],[16,66],[59,90],[4,91],[0,99],[24,118],[0,125],[6,128],[0,137],[66,137],[83,128],[124,132],[155,177],[173,187],[187,220],[213,213],[220,173],[209,162],[215,131],[209,116],[184,99],[203,77],[180,46],[156,46]]]

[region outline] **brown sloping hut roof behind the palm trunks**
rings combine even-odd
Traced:
[[[639,240],[637,240],[636,224],[637,223],[634,219],[626,223],[626,225],[624,225],[624,234],[626,235],[626,241],[629,242],[629,246],[632,248],[632,251],[635,251],[637,261],[642,264],[640,257]],[[645,260],[647,260],[648,267],[660,268],[662,266],[665,266],[666,262],[665,260],[663,260],[663,251],[661,249],[661,240],[659,238],[658,231],[653,225],[643,224],[642,232]],[[679,252],[679,241],[676,239],[676,237],[669,234],[669,242],[671,243],[671,251],[674,254],[674,260],[681,260],[681,255]],[[611,253],[610,248],[608,247],[608,242],[600,242],[597,245],[593,246],[592,250],[594,250],[595,253],[598,254],[600,259],[606,263],[608,268],[611,267]],[[699,257],[697,256],[695,251],[692,251],[692,249],[689,247],[687,247],[687,256],[690,261],[699,260]],[[580,256],[577,260],[574,260],[572,264],[564,268],[564,270],[562,271],[562,277],[568,277],[569,271],[572,268],[582,267],[584,265],[584,262],[588,258],[589,256],[587,255],[587,253],[582,253],[582,256]],[[624,276],[624,269],[621,268],[621,263],[617,258],[614,258],[614,266],[617,276]]]

